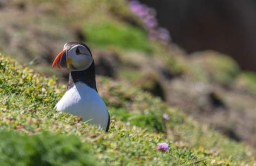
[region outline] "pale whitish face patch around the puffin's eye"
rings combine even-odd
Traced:
[[[86,70],[93,62],[90,51],[80,44],[71,47],[68,51],[67,60],[72,61],[71,64],[68,64],[71,71]]]

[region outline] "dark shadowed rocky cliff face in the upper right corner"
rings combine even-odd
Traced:
[[[256,71],[256,1],[143,0],[156,8],[174,43],[188,52],[213,49]]]

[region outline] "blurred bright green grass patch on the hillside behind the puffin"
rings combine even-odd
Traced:
[[[117,22],[101,22],[92,25],[85,23],[84,31],[89,43],[152,52],[146,32],[132,25]]]

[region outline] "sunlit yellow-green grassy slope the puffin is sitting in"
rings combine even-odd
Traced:
[[[76,135],[91,147],[101,163],[113,165],[255,162],[254,152],[244,144],[199,126],[178,110],[129,85],[98,78],[99,91],[112,115],[110,133],[104,133],[78,117],[52,110],[65,91],[55,79],[45,79],[3,55],[0,72],[4,73],[0,75],[0,126],[10,131],[10,135],[15,134],[13,130],[29,135],[45,131]],[[163,120],[163,113],[170,119]],[[169,142],[170,150],[166,153],[156,149],[161,141]],[[14,146],[19,147],[19,144]],[[72,146],[75,145],[70,144]],[[81,155],[88,153],[88,150],[80,151]],[[5,154],[5,151],[0,153]]]

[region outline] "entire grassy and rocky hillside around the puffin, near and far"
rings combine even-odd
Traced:
[[[187,53],[154,9],[132,2],[0,1],[0,161],[256,164],[256,73],[219,52]],[[109,133],[53,110],[69,72],[51,64],[68,41],[90,46]]]

